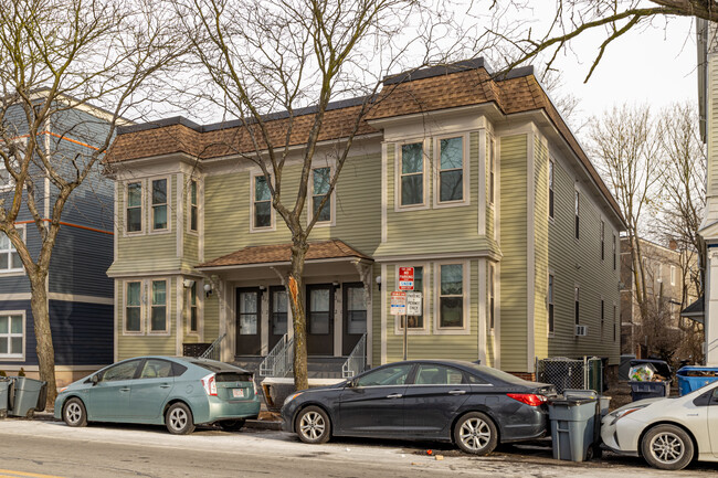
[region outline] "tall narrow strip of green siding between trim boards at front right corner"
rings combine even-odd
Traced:
[[[527,367],[527,141],[526,135],[500,140],[501,369]]]

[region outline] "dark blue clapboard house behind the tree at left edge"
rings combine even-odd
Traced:
[[[11,131],[7,137],[20,146],[28,138],[23,118],[20,108],[0,117],[1,126]],[[87,105],[57,111],[45,123],[38,144],[50,151],[55,170],[71,177],[76,173],[75,164],[82,166],[105,140],[109,118],[108,113]],[[56,189],[40,161],[35,162],[32,178],[38,209],[43,220],[49,220]],[[13,192],[12,179],[0,160],[0,199],[8,204]],[[113,183],[103,177],[98,161],[70,196],[52,253],[46,287],[59,386],[113,361],[113,280],[105,274],[113,263]],[[15,225],[36,258],[41,238],[27,202]],[[8,374],[17,374],[20,369],[28,376],[39,373],[30,298],[30,283],[20,257],[0,232],[0,371]]]

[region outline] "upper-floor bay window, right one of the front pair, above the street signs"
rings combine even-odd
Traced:
[[[452,135],[434,141],[436,174],[434,176],[434,206],[466,205],[469,203],[468,137]]]

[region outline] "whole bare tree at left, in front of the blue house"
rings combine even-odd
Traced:
[[[73,191],[97,173],[123,115],[140,110],[142,85],[177,54],[181,36],[166,19],[144,0],[0,0],[0,160],[8,181],[0,194],[0,232],[30,282],[50,406],[56,385],[46,278],[62,214]],[[92,148],[60,156],[49,147],[45,128],[87,107],[105,108],[102,121],[60,136],[83,141],[93,129]],[[21,214],[40,236],[36,253],[18,226]]]

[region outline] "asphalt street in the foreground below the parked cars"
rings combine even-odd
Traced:
[[[550,449],[504,446],[472,457],[451,445],[336,439],[305,445],[282,432],[228,433],[199,428],[189,436],[163,427],[0,421],[0,477],[707,477],[718,464],[661,472],[633,458],[573,464]],[[431,447],[432,456],[425,450]],[[443,459],[436,459],[441,455]]]

